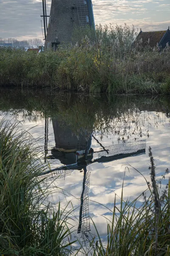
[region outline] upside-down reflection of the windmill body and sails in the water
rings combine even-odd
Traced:
[[[45,124],[48,124],[48,122],[45,122]],[[64,166],[44,172],[42,175],[51,178],[56,176],[57,178],[62,178],[71,175],[74,170],[83,172],[77,233],[85,233],[90,231],[88,190],[91,172],[87,171],[87,166],[96,162],[111,162],[125,157],[145,154],[146,140],[119,143],[104,147],[93,133],[83,131],[77,136],[64,122],[61,124],[57,119],[52,119],[52,124],[55,147],[51,149],[51,155],[47,157],[45,153],[45,157],[48,159],[58,159]],[[45,131],[48,131],[48,128],[45,128]],[[94,151],[91,148],[92,137],[99,143],[101,147],[99,151]],[[94,153],[97,153],[97,157],[95,158]]]

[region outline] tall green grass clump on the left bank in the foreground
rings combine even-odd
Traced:
[[[0,122],[0,253],[67,255],[68,216],[60,205],[56,210],[46,203],[48,188],[38,178],[42,164],[30,135],[18,126]]]

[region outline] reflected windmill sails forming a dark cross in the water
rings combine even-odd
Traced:
[[[87,142],[88,145],[88,142]],[[71,175],[74,170],[84,171],[83,182],[82,182],[82,194],[80,197],[80,210],[79,210],[79,226],[77,233],[85,233],[90,231],[90,218],[89,218],[89,208],[88,208],[88,190],[90,186],[90,175],[91,172],[87,172],[87,166],[89,164],[98,162],[111,162],[113,160],[122,159],[125,157],[136,156],[145,153],[146,140],[139,140],[136,142],[120,143],[117,145],[111,145],[108,147],[102,147],[98,151],[98,157],[94,160],[88,160],[88,148],[86,147],[84,157],[80,158],[79,162],[58,167],[56,169],[49,170],[42,173],[42,176],[48,178],[62,178]],[[104,149],[103,149],[104,148]],[[79,152],[79,151],[78,151]],[[83,153],[82,153],[83,154]]]

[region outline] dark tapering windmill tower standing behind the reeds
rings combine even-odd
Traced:
[[[71,42],[74,27],[94,26],[91,0],[52,0],[45,49]]]

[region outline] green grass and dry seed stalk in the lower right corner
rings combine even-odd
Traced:
[[[120,208],[116,206],[116,195],[112,220],[107,219],[107,241],[91,242],[94,256],[169,256],[170,255],[170,179],[166,189],[159,193],[161,180],[156,183],[154,160],[149,148],[151,182],[150,196],[143,192],[144,203],[136,207],[141,195],[134,201],[123,201],[123,185]],[[132,166],[130,166],[132,167]],[[136,170],[136,172],[138,172]],[[152,173],[153,172],[153,173]],[[168,173],[168,169],[165,173]],[[117,213],[118,212],[118,213]]]

